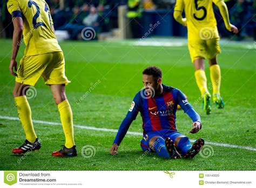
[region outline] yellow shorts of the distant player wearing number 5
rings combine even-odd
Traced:
[[[192,62],[199,58],[215,58],[220,53],[219,38],[188,41],[188,50]]]

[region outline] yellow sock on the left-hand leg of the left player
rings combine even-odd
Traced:
[[[29,102],[26,100],[26,96],[17,96],[14,100],[18,110],[19,120],[21,120],[23,130],[26,134],[26,140],[35,142],[37,136],[33,128]]]

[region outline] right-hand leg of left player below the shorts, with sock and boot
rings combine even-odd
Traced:
[[[65,147],[60,150],[53,152],[53,156],[77,156],[76,145],[73,134],[73,115],[69,105],[68,99],[65,94],[65,84],[50,85],[53,99],[58,106],[60,121],[65,134]]]

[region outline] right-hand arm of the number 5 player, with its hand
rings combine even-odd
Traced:
[[[238,33],[237,27],[230,23],[230,18],[228,17],[228,10],[227,10],[227,6],[226,6],[225,2],[223,0],[221,0],[221,1],[215,0],[213,2],[214,2],[215,5],[218,6],[218,8],[220,10],[220,14],[224,19],[226,29],[228,31],[233,32],[233,33]]]

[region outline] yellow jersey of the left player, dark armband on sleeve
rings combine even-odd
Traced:
[[[62,52],[53,29],[49,6],[44,0],[9,0],[7,8],[12,20],[16,17],[23,19],[24,56]]]

